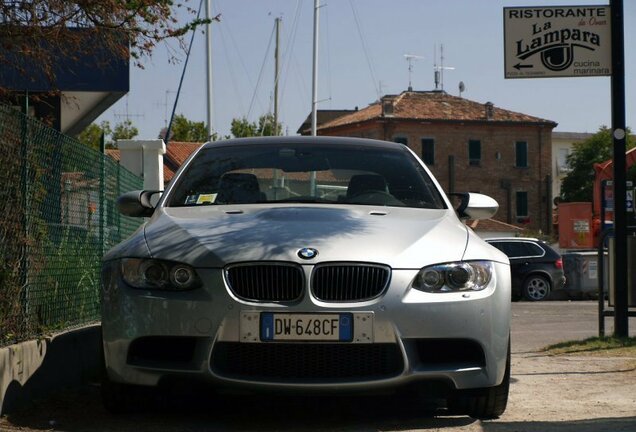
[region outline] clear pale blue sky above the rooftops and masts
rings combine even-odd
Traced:
[[[589,0],[321,0],[319,109],[365,107],[381,94],[434,88],[435,47],[444,47],[444,90],[557,122],[557,131],[595,132],[611,123],[610,78],[504,79],[503,8],[608,4]],[[636,128],[636,1],[624,0],[627,125]],[[198,8],[199,0],[190,0]],[[212,0],[214,128],[229,134],[233,118],[255,121],[273,110],[274,19],[282,17],[280,115],[290,135],[311,111],[313,0]],[[357,17],[357,20],[356,20]],[[187,38],[189,41],[189,37]],[[169,63],[169,52],[182,61]],[[131,65],[130,92],[97,121],[122,121],[156,138],[169,118],[185,53],[160,45],[144,69]],[[261,73],[262,71],[262,73]],[[259,80],[260,77],[260,80]],[[167,101],[167,108],[166,108]],[[195,36],[177,113],[204,121],[205,37]],[[166,115],[167,113],[167,115]]]

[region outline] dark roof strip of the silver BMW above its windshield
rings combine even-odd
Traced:
[[[289,145],[355,145],[374,148],[400,149],[404,144],[391,141],[381,141],[369,138],[332,137],[332,136],[267,136],[232,138],[227,140],[212,141],[204,144],[203,148],[215,148],[223,146],[242,146],[259,144],[289,144]]]

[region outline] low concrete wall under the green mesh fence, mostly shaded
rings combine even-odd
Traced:
[[[0,415],[102,376],[101,326],[0,348]]]

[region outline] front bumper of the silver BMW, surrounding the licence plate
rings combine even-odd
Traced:
[[[204,287],[134,290],[104,268],[102,329],[109,378],[157,385],[185,377],[253,390],[371,390],[422,381],[469,389],[499,384],[510,333],[510,276],[495,264],[484,291],[407,290],[417,270],[392,270],[387,291],[365,302],[292,305],[236,298],[221,269],[197,269]],[[306,280],[312,266],[304,266]],[[369,317],[353,342],[245,341],[246,316],[261,312],[352,313]],[[243,331],[242,331],[243,329]],[[243,335],[243,337],[242,337]]]

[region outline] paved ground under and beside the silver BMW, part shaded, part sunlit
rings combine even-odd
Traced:
[[[513,304],[511,397],[496,421],[432,417],[421,405],[395,397],[201,397],[112,416],[93,385],[0,419],[0,431],[636,431],[636,359],[590,361],[537,352],[548,344],[595,336],[596,308],[595,302]],[[607,327],[611,332],[612,318]],[[634,334],[636,318],[630,328]]]

